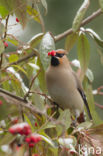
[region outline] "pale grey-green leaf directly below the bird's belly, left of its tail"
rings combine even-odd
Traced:
[[[68,109],[62,111],[60,113],[58,121],[60,121],[60,123],[63,124],[63,127],[67,130],[70,127],[70,124],[71,124],[70,111]]]

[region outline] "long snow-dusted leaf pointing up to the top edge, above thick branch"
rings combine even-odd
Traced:
[[[72,25],[72,29],[74,32],[76,32],[79,27],[80,24],[84,18],[84,15],[89,7],[90,1],[89,0],[84,0],[83,4],[81,5],[81,7],[79,8],[79,10],[77,11],[77,14],[73,20],[73,25]]]

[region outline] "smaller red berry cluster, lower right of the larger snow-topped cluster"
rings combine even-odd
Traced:
[[[34,147],[36,143],[41,141],[41,136],[36,133],[32,133],[29,137],[25,139],[25,141],[29,144],[29,147]]]

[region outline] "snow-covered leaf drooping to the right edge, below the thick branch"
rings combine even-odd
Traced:
[[[94,32],[92,29],[85,29],[87,33],[96,41],[96,43],[103,48],[103,40],[99,37],[99,35]]]

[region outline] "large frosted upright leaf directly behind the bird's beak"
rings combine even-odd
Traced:
[[[51,36],[49,32],[47,32],[41,40],[40,50],[39,50],[40,60],[41,60],[44,70],[47,69],[50,63],[48,52],[54,49],[55,49],[54,38]]]

